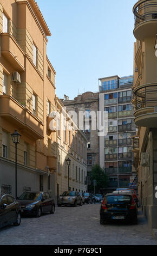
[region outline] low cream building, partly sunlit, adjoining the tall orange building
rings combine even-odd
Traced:
[[[62,101],[56,97],[57,196],[69,190],[87,191],[87,138],[78,128]],[[66,160],[70,159],[69,176]]]

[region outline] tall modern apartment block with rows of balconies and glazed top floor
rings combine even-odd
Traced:
[[[135,135],[132,107],[133,76],[99,79],[99,109],[108,113],[105,135],[100,137],[100,166],[109,176],[106,191],[129,187],[133,168],[132,136]]]

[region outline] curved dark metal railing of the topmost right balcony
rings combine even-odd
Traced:
[[[139,1],[134,5],[135,27],[141,22],[157,19],[157,3],[154,0]]]

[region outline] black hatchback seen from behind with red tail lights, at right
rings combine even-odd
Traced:
[[[100,224],[111,220],[126,220],[138,223],[138,208],[130,193],[109,193],[103,198],[100,207]]]

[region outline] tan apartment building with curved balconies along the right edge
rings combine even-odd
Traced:
[[[134,86],[132,101],[138,132],[134,138],[134,164],[143,213],[152,229],[157,228],[157,3],[142,0],[133,7]]]

